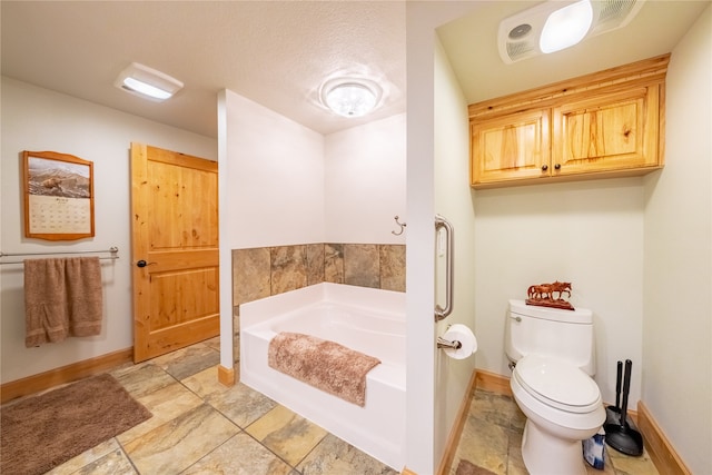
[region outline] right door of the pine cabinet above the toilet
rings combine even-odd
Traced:
[[[553,174],[657,167],[659,86],[553,109]]]

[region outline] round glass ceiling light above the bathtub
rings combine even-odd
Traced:
[[[363,78],[336,78],[322,86],[322,103],[343,117],[362,117],[378,106],[380,87]]]

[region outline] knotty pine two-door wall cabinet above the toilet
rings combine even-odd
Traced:
[[[469,106],[471,185],[494,188],[661,168],[669,59]]]

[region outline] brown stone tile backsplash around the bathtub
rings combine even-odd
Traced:
[[[235,362],[239,305],[320,283],[405,291],[405,245],[305,244],[233,250]]]

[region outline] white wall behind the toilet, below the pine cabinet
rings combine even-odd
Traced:
[[[595,380],[615,402],[615,362],[633,362],[640,398],[643,284],[642,178],[533,185],[475,192],[477,367],[511,376],[507,300],[533,284],[571,281],[571,303],[594,314]]]

